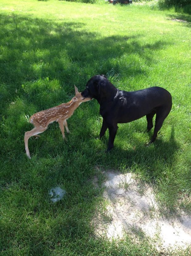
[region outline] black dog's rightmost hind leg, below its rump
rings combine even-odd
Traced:
[[[171,110],[171,108],[170,108],[170,110]],[[170,110],[169,110],[169,108],[166,108],[166,106],[165,106],[163,108],[158,109],[158,111],[156,112],[154,133],[153,133],[153,136],[152,136],[151,141],[149,142],[149,144],[156,140],[158,131],[162,127],[164,119],[167,117]]]

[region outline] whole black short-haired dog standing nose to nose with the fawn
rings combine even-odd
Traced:
[[[109,128],[107,151],[113,148],[117,132],[117,123],[128,123],[146,115],[147,131],[153,127],[152,118],[156,114],[154,133],[150,143],[154,142],[164,119],[172,108],[170,93],[161,87],[126,92],[118,90],[104,75],[93,76],[81,93],[83,97],[95,98],[100,105],[103,124],[100,138]]]

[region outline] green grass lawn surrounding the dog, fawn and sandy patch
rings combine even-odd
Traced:
[[[191,31],[189,22],[171,20],[180,15],[135,4],[1,1],[1,255],[159,255],[148,240],[94,236],[102,194],[92,181],[103,179],[95,166],[133,172],[152,183],[165,212],[190,212]],[[119,89],[170,91],[173,107],[157,141],[145,147],[152,132],[145,133],[142,118],[119,124],[115,148],[106,154],[108,133],[97,140],[102,118],[93,100],[68,120],[68,142],[53,123],[29,140],[27,159],[28,117],[69,101],[74,84],[81,91],[95,74],[107,74]],[[67,196],[52,204],[48,193],[55,186]]]

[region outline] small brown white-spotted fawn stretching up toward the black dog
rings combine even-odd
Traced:
[[[31,159],[28,149],[28,139],[30,137],[40,137],[38,135],[39,133],[44,132],[50,123],[57,121],[59,123],[63,139],[66,140],[64,127],[66,128],[67,133],[70,133],[67,119],[73,115],[75,109],[78,108],[82,102],[90,101],[91,99],[92,98],[82,97],[81,92],[78,92],[78,88],[75,86],[75,96],[69,102],[33,114],[29,118],[29,122],[34,125],[34,128],[31,131],[26,132],[24,136],[25,150],[28,158]]]

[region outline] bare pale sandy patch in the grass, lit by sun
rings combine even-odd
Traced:
[[[97,235],[122,238],[124,233],[143,232],[155,240],[158,249],[191,245],[191,218],[181,215],[172,220],[161,218],[153,190],[133,178],[131,173],[113,171],[104,183],[106,214],[94,219]]]

